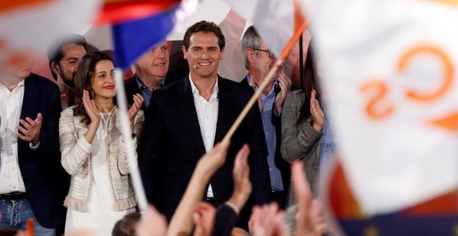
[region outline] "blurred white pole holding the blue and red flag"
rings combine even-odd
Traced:
[[[127,150],[128,165],[130,168],[130,179],[132,180],[133,189],[135,192],[135,196],[137,198],[138,208],[140,212],[144,212],[146,210],[148,202],[146,201],[146,195],[142,184],[142,178],[140,177],[140,172],[138,170],[138,165],[134,164],[134,160],[136,157],[134,153],[135,150],[133,149],[133,138],[131,136],[132,132],[130,130],[130,124],[127,116],[127,99],[126,90],[124,90],[124,79],[122,69],[114,69],[114,78],[116,79],[116,99],[120,114],[119,118],[121,119],[124,145],[126,145]]]

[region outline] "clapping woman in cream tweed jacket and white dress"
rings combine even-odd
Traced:
[[[137,148],[144,121],[143,98],[134,95],[128,110],[133,150],[126,150],[114,96],[112,59],[89,53],[81,59],[74,77],[76,105],[62,111],[59,121],[62,166],[71,175],[65,198],[65,233],[85,228],[110,235],[117,220],[135,210],[137,202],[128,176],[127,151]],[[135,153],[135,163],[137,154]]]

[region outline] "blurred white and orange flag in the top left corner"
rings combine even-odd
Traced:
[[[96,0],[15,0],[0,3],[0,67],[6,68],[68,33],[83,33],[99,10]]]

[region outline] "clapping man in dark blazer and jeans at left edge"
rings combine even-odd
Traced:
[[[31,74],[31,62],[3,74],[1,101],[0,228],[26,228],[53,235],[65,221],[62,204],[69,176],[60,165],[60,91]]]

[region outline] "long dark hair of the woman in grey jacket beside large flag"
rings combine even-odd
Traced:
[[[305,58],[305,68],[304,68],[304,78],[300,81],[300,88],[305,94],[304,104],[300,108],[300,114],[297,121],[297,124],[306,121],[308,117],[312,114],[310,113],[310,97],[312,96],[312,89],[316,90],[315,98],[320,101],[320,88],[316,82],[316,65],[314,61],[314,51],[312,47],[312,41],[309,42],[309,47],[307,49],[307,57]]]

